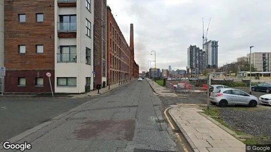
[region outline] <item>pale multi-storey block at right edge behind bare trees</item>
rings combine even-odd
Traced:
[[[251,63],[258,72],[271,72],[271,52],[253,52],[247,54],[248,62]]]

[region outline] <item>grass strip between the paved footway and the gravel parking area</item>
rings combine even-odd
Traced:
[[[204,108],[202,110],[203,110],[203,113],[205,113],[209,117],[213,118],[214,120],[219,122],[221,125],[227,127],[228,129],[235,132],[236,134],[238,134],[238,135],[248,135],[248,134],[246,134],[246,133],[244,133],[242,131],[235,130],[234,128],[230,127],[227,123],[225,123],[224,120],[220,118],[220,110],[219,110],[218,107],[212,107],[212,108],[209,108],[209,110],[207,110],[207,108]],[[245,144],[260,144],[259,141],[261,141],[261,139],[262,139],[261,137],[253,136],[252,138],[246,138],[245,140],[242,140],[242,142],[245,143]]]

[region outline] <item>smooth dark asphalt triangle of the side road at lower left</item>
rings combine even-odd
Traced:
[[[0,143],[88,100],[0,98]]]

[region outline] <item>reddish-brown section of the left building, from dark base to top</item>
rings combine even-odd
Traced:
[[[4,3],[5,92],[51,92],[46,72],[54,89],[54,0]]]

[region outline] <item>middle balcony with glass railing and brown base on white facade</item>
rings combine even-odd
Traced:
[[[57,32],[58,37],[76,37],[76,22],[58,22]]]

